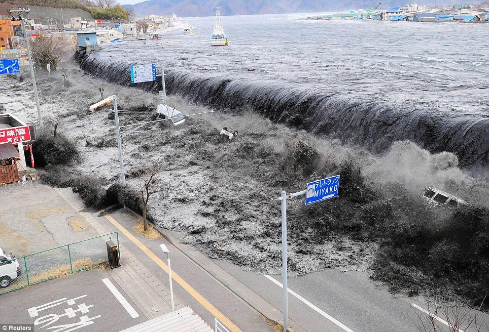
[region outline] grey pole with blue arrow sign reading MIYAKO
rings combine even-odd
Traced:
[[[287,199],[292,199],[295,196],[306,195],[305,204],[310,205],[326,199],[338,196],[339,175],[330,178],[309,182],[307,189],[295,193],[287,194],[282,191],[281,201],[282,207],[282,301],[284,313],[284,332],[287,332],[289,327],[289,300],[287,286]]]

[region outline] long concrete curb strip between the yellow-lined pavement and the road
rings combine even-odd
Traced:
[[[132,211],[129,208],[125,208],[125,210],[129,211],[136,218],[143,218],[139,216],[136,212]],[[173,236],[173,231],[171,230],[163,230],[158,225],[155,225],[153,222],[148,220],[148,223],[153,226],[158,233],[161,234],[168,242],[170,242],[174,247],[176,247],[184,256],[186,256],[189,260],[198,265],[202,270],[204,270],[207,274],[211,275],[215,280],[221,283],[224,287],[228,288],[234,295],[240,298],[243,302],[248,304],[251,308],[257,311],[259,314],[263,315],[267,320],[280,324],[283,326],[282,321],[282,312],[271,305],[269,302],[264,300],[258,294],[256,294],[252,289],[250,289],[247,285],[243,284],[241,281],[236,279],[234,276],[229,274],[226,270],[221,268],[219,265],[214,263],[207,256],[203,255],[199,251],[191,251],[189,250],[190,245],[186,245],[180,243],[180,241]],[[174,232],[173,232],[174,233]],[[297,324],[295,321],[290,319],[289,317],[289,331],[290,332],[307,332],[303,327]]]

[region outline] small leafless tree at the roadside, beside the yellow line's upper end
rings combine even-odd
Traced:
[[[161,178],[158,176],[160,171],[161,167],[159,165],[152,165],[135,172],[135,177],[138,179],[138,191],[141,193],[143,203],[143,226],[145,231],[148,230],[148,201],[155,193],[161,190]]]

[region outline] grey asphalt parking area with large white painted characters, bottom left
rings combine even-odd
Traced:
[[[83,326],[77,332],[118,332],[146,321],[146,317],[122,289],[115,286],[135,312],[127,305],[129,311],[121,305],[102,281],[106,278],[117,285],[104,270],[92,269],[1,295],[0,325],[34,324],[36,331],[52,331],[66,324],[79,323]],[[58,327],[48,329],[53,326]]]

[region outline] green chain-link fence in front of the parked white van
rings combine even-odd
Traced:
[[[2,248],[5,257],[0,256],[0,295],[108,262],[109,240],[119,247],[119,234],[114,232],[22,257]]]

